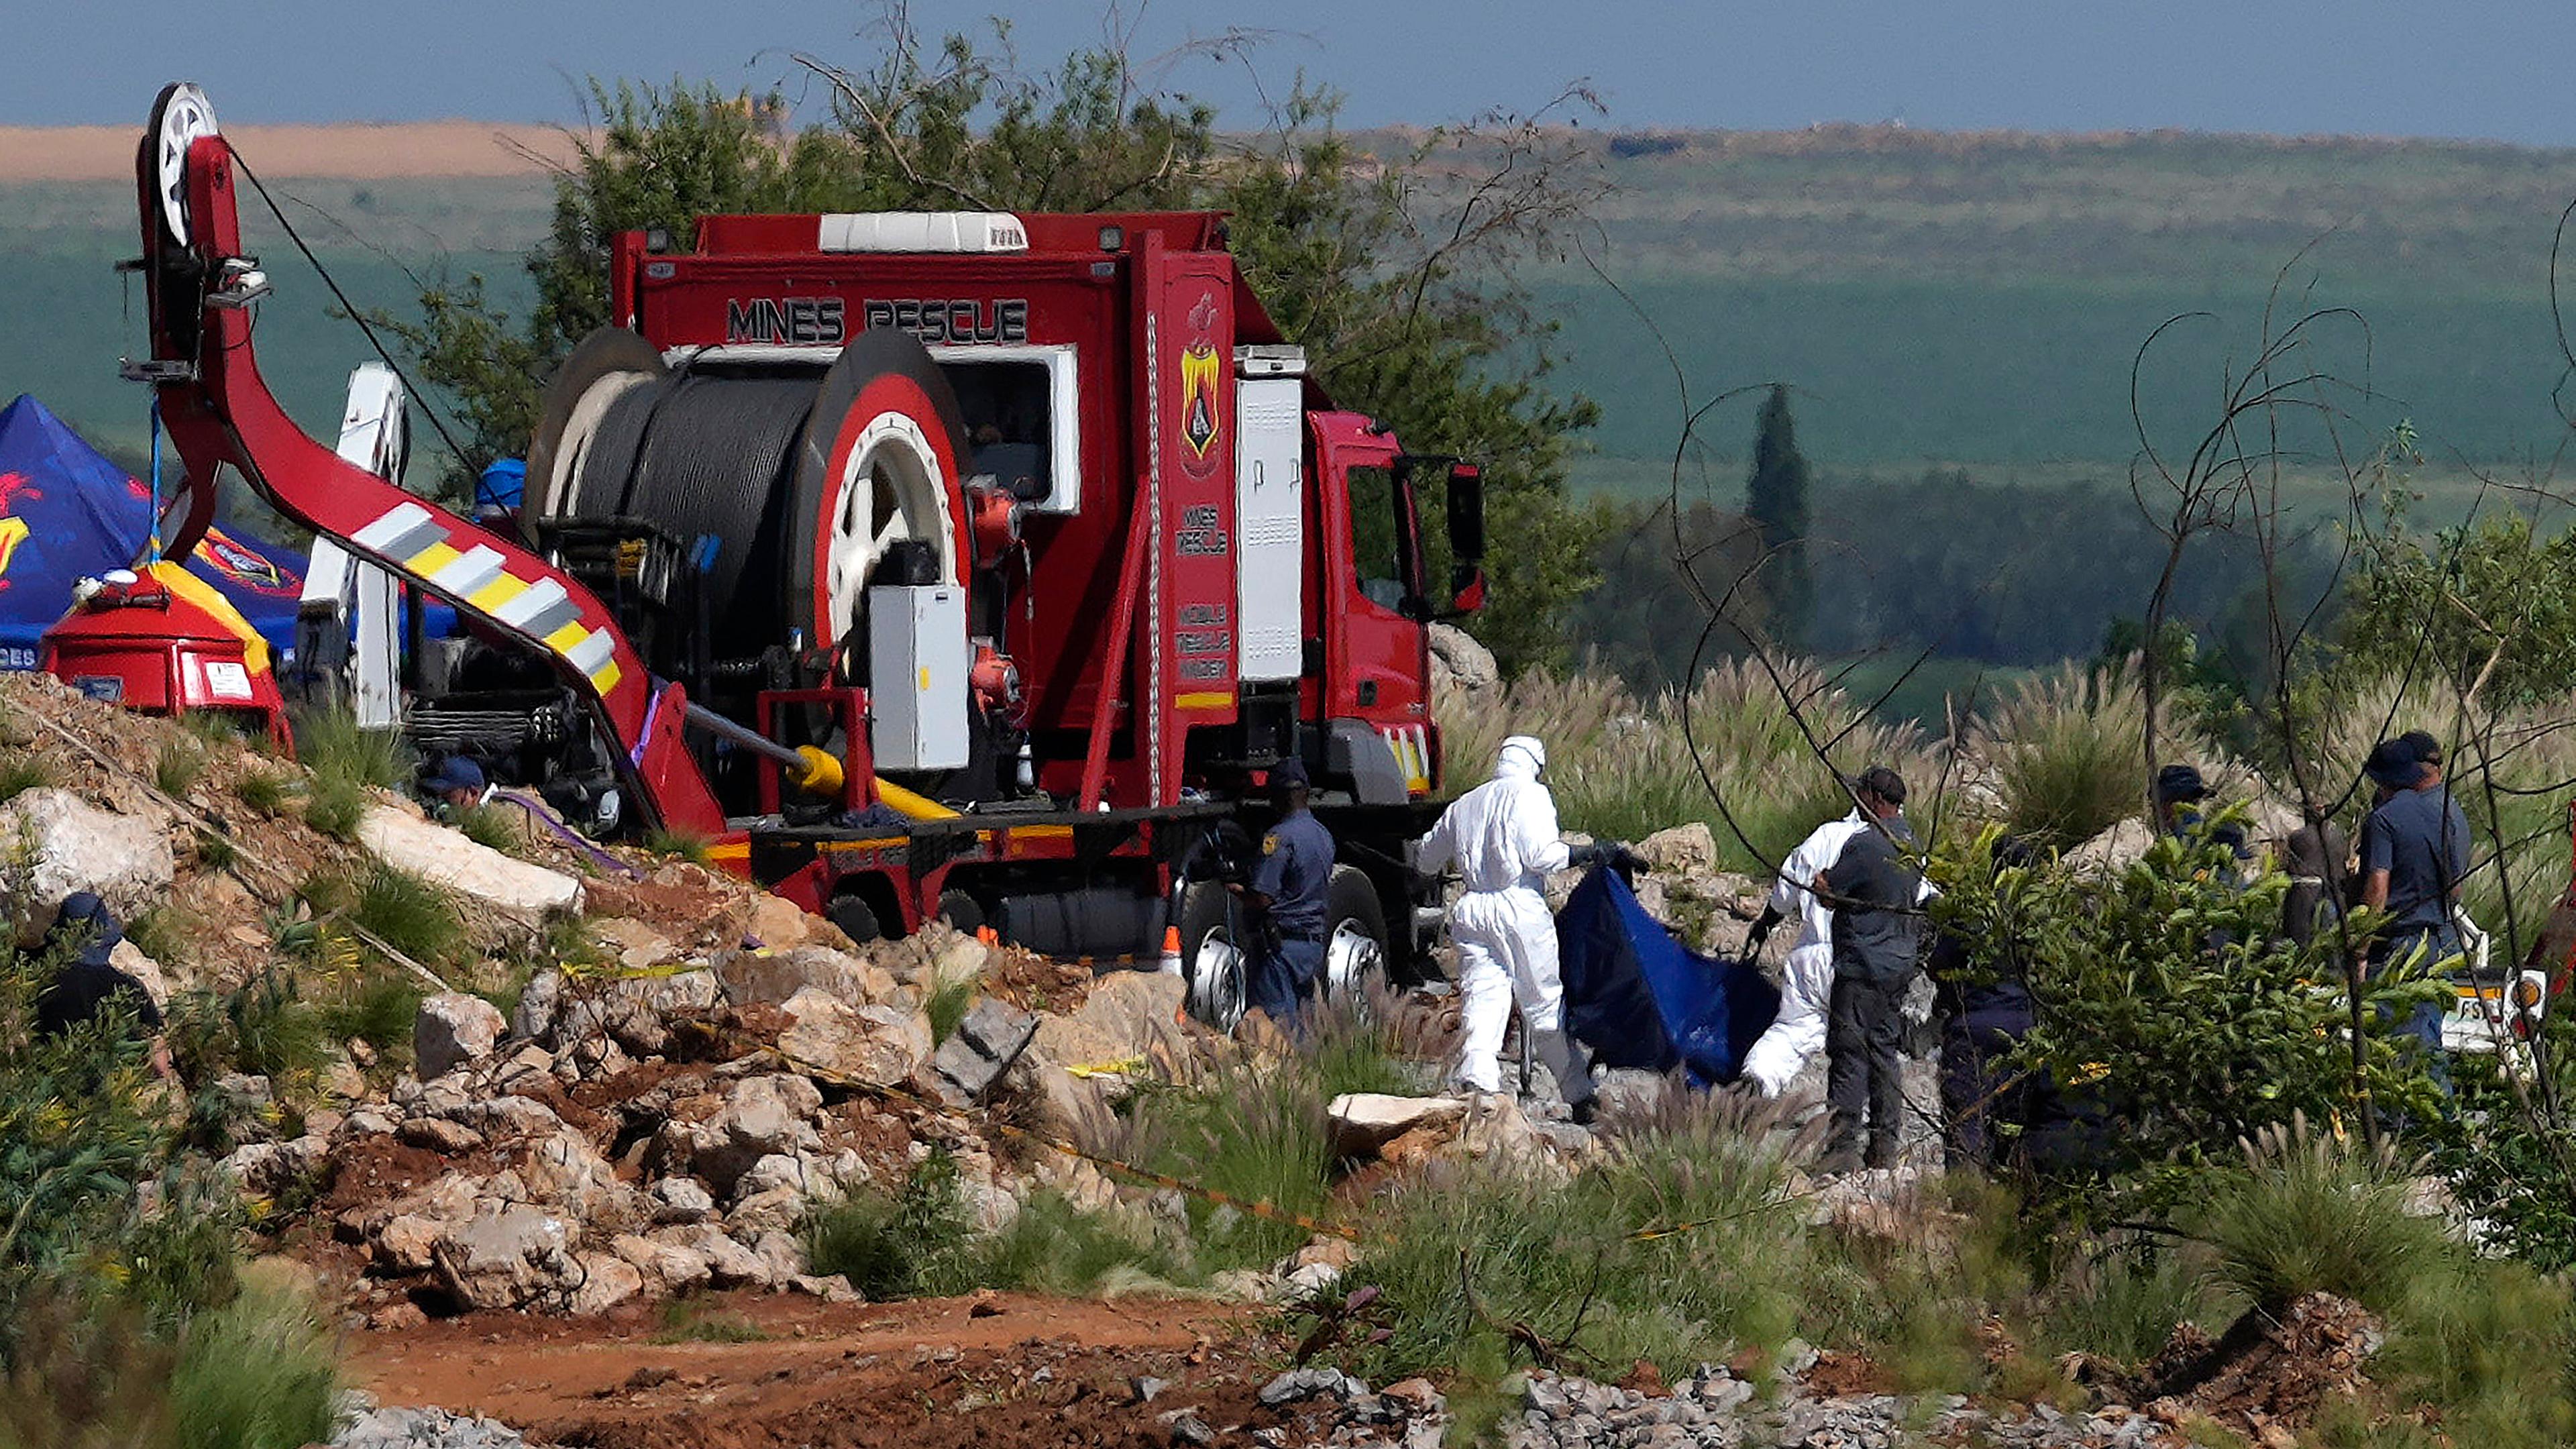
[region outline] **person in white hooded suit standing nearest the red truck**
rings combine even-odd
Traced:
[[[1502,1034],[1520,998],[1522,1031],[1574,1109],[1592,1122],[1592,1065],[1566,1031],[1566,987],[1556,975],[1556,918],[1540,895],[1548,871],[1569,864],[1556,835],[1556,797],[1538,773],[1548,748],[1512,735],[1494,758],[1494,779],[1461,794],[1422,838],[1414,866],[1440,871],[1450,861],[1466,895],[1450,908],[1458,944],[1458,998],[1466,1039],[1455,1085],[1473,1093],[1502,1091]]]

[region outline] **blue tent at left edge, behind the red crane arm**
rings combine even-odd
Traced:
[[[72,583],[129,567],[149,536],[147,482],[126,477],[33,397],[0,410],[0,668],[36,668],[36,642],[72,608]],[[281,657],[294,647],[304,554],[209,529],[188,570]]]

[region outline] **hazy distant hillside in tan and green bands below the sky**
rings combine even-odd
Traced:
[[[245,129],[245,155],[366,307],[404,307],[412,273],[479,271],[518,297],[518,253],[549,214],[533,126]],[[134,131],[0,131],[0,400],[41,392],[108,441],[139,441],[116,384],[139,320],[111,263],[134,250]],[[1942,134],[1899,126],[1600,134],[1615,193],[1589,250],[1538,273],[1561,320],[1551,384],[1605,405],[1582,480],[1662,490],[1674,446],[1669,345],[1695,400],[1783,379],[1808,454],[1834,477],[2112,480],[2136,449],[2130,361],[2148,358],[2156,428],[2213,418],[2221,369],[2251,356],[2267,289],[2285,309],[2354,307],[2316,364],[2370,394],[2365,428],[2411,418],[2434,459],[2504,462],[2563,438],[2545,304],[2550,227],[2576,150],[2460,142],[2156,134]],[[278,299],[263,358],[289,405],[330,425],[363,340],[276,224],[250,217]],[[2295,260],[2295,266],[2293,266]],[[2568,291],[2576,294],[2576,278]],[[1638,317],[1643,312],[1643,320]],[[1649,325],[1651,322],[1651,325]],[[1710,418],[1705,469],[1741,477],[1749,407]]]

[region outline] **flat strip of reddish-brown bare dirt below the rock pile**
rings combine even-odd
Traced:
[[[471,1315],[355,1343],[350,1377],[386,1405],[482,1413],[531,1441],[598,1449],[1036,1449],[1170,1444],[1198,1408],[1221,1441],[1278,1423],[1255,1392],[1278,1366],[1260,1312],[1195,1299],[992,1294],[902,1305],[711,1297],[667,1336],[657,1307],[595,1320]],[[1164,1379],[1151,1405],[1139,1379]]]

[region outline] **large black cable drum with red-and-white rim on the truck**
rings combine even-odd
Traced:
[[[829,366],[721,351],[665,366],[608,327],[549,387],[528,472],[541,521],[716,539],[714,652],[752,657],[845,645],[894,565],[956,583],[963,456],[956,394],[909,333],[863,333]]]

